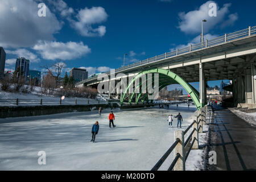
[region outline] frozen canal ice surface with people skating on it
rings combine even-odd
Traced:
[[[150,170],[174,142],[168,114],[183,115],[183,130],[192,122],[195,107],[169,110],[151,108],[114,110],[115,128],[109,128],[103,110],[37,117],[0,119],[0,170]],[[96,143],[90,142],[98,121]],[[46,165],[38,164],[38,152],[46,152]],[[160,169],[167,169],[173,155]]]

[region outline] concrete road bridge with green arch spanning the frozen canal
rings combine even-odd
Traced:
[[[119,94],[123,102],[148,101],[149,93],[128,93],[134,90],[134,83],[148,73],[159,74],[159,90],[167,85],[180,84],[190,94],[197,109],[207,104],[206,81],[232,80],[234,104],[256,104],[256,26],[248,27],[218,38],[205,40],[189,47],[176,49],[162,55],[151,57],[137,63],[106,72],[100,76],[89,78],[77,83],[76,86],[92,86],[97,88],[102,82],[120,81]],[[114,74],[114,77],[110,77]],[[103,77],[108,76],[108,79]],[[123,80],[130,78],[129,84]],[[148,80],[148,78],[146,78]],[[154,78],[153,78],[154,79]],[[189,82],[200,82],[200,92],[197,92]]]

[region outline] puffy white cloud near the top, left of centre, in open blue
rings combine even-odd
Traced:
[[[103,7],[92,7],[88,9],[81,9],[76,16],[77,21],[69,19],[71,26],[75,28],[82,36],[104,36],[106,33],[105,26],[98,26],[93,28],[94,24],[105,22],[108,18]]]

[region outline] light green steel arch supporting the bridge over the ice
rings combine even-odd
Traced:
[[[168,69],[162,69],[162,68],[147,69],[147,70],[144,70],[144,71],[138,73],[138,75],[135,76],[133,78],[133,80],[131,80],[131,82],[127,85],[127,88],[126,88],[125,92],[123,93],[121,101],[120,101],[121,105],[123,104],[123,101],[125,101],[126,98],[128,98],[129,103],[131,103],[131,101],[133,100],[134,95],[135,95],[135,89],[134,89],[134,92],[129,97],[129,93],[128,93],[129,88],[131,86],[134,86],[135,80],[142,77],[143,75],[147,75],[148,73],[159,73],[159,91],[161,89],[163,89],[164,87],[166,87],[167,85],[180,84],[181,86],[183,86],[183,88],[191,96],[191,98],[192,98],[193,102],[195,103],[197,109],[200,110],[201,104],[200,104],[200,99],[199,99],[199,92],[195,88],[193,88],[193,86],[188,84],[188,82],[183,80],[183,78],[181,78],[180,76],[178,76],[175,73],[169,71]],[[142,81],[139,81],[139,85],[137,85],[137,87],[141,86],[142,83],[143,83]],[[135,102],[138,103],[139,98],[141,98],[142,102],[144,102],[144,100],[147,98],[147,96],[148,96],[147,93],[138,93],[138,96],[137,96]]]

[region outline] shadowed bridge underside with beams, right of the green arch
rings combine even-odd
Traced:
[[[256,104],[256,80],[254,80],[256,75],[255,53],[233,57],[232,59],[210,61],[202,65],[195,64],[182,68],[173,68],[170,71],[184,78],[187,82],[202,82],[200,67],[203,69],[205,82],[232,80],[234,105],[238,103]]]

